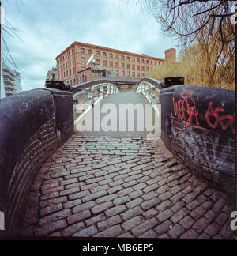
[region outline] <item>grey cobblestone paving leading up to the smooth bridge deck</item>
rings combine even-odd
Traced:
[[[152,143],[75,135],[37,175],[22,235],[232,238],[233,203]]]

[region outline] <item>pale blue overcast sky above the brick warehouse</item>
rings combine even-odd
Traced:
[[[132,1],[135,2],[135,1]],[[74,41],[164,58],[175,47],[140,6],[124,0],[3,0],[6,21],[20,31],[3,32],[21,70],[22,88],[43,88],[55,57]]]

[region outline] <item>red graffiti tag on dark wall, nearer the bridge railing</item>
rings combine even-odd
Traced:
[[[181,99],[178,102],[175,102],[175,97],[173,96],[174,114],[178,119],[186,121],[186,127],[190,125],[193,119],[195,120],[196,125],[199,126],[199,111],[192,94],[192,91],[184,88],[180,95]]]

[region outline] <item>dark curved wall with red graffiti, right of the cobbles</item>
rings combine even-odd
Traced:
[[[175,85],[160,92],[162,140],[187,167],[234,195],[235,92]]]

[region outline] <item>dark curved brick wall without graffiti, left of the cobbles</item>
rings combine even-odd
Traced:
[[[0,211],[5,213],[5,235],[17,234],[36,172],[71,134],[71,92],[36,89],[1,100]]]

